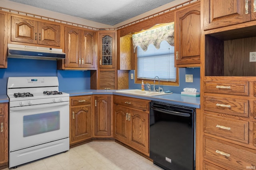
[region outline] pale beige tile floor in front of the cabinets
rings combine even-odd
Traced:
[[[6,168],[4,170],[9,170]],[[34,161],[16,170],[162,170],[116,142],[94,141],[66,153]]]

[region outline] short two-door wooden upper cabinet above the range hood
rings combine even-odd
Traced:
[[[11,41],[60,47],[60,24],[12,16]]]

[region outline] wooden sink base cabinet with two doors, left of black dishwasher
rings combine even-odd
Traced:
[[[137,109],[141,104],[146,107]],[[148,100],[114,96],[114,137],[147,156],[149,156],[148,105]]]

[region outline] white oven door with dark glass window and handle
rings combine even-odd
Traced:
[[[10,152],[69,137],[69,102],[10,107]]]

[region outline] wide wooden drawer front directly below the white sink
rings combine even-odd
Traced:
[[[141,109],[145,111],[149,110],[149,100],[142,100],[124,96],[114,96],[114,104]]]

